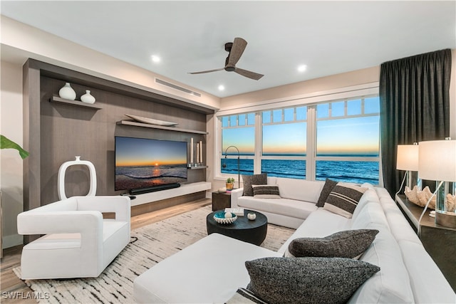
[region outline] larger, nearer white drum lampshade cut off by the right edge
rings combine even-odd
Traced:
[[[456,182],[456,140],[430,140],[418,147],[420,179]]]

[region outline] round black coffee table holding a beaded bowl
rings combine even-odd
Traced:
[[[207,234],[223,234],[240,241],[260,245],[266,239],[268,219],[258,211],[244,209],[244,216],[237,216],[232,224],[219,224],[214,220],[214,214],[224,210],[214,211],[206,217]],[[253,212],[257,218],[253,221],[247,219],[247,214]]]

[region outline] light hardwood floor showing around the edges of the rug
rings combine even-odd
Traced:
[[[187,211],[199,209],[202,206],[207,206],[209,204],[211,204],[210,199],[200,199],[152,211],[147,214],[133,216],[131,218],[131,229],[134,230],[148,224],[156,223],[157,221],[162,221],[172,216],[183,214]],[[21,281],[13,272],[13,268],[20,266],[21,264],[21,251],[22,246],[6,248],[4,250],[4,256],[1,258],[0,269],[1,303],[36,303],[36,300],[27,298],[27,296],[30,297],[32,295],[32,290],[28,288],[24,281]]]

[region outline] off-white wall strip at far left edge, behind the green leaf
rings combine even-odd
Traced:
[[[0,134],[22,145],[22,67],[0,63]],[[23,207],[22,159],[12,149],[0,150],[0,189],[3,211],[3,247],[22,243],[16,216]]]

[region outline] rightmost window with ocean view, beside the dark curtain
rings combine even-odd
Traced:
[[[316,180],[378,184],[379,112],[378,98],[317,106]]]

